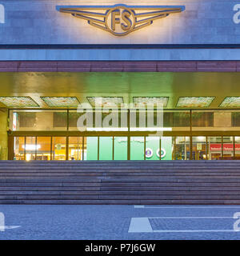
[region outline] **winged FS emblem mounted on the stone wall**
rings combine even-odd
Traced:
[[[115,36],[124,36],[150,26],[158,18],[180,13],[185,6],[57,6],[57,10]]]

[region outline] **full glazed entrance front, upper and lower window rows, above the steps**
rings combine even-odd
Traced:
[[[100,113],[98,120],[99,113],[94,110],[92,126],[81,130],[78,121],[84,115],[76,110],[9,110],[8,158],[26,161],[240,159],[239,110],[164,110],[160,124],[155,112],[151,115],[142,110],[124,110],[118,118],[114,115],[117,110],[109,116],[104,111]],[[151,117],[154,122],[149,125]],[[106,120],[111,120],[107,128]]]

